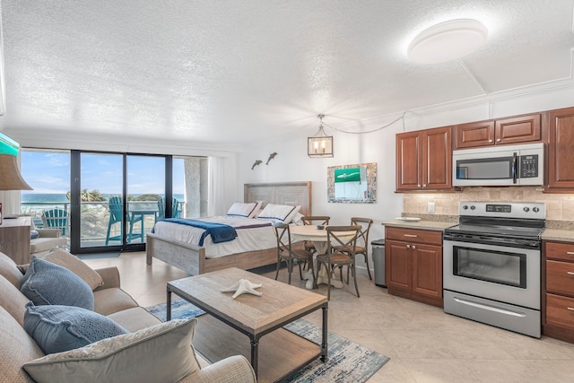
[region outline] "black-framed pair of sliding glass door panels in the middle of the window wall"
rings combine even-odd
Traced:
[[[169,161],[170,156],[74,151],[73,252],[143,250],[163,210]]]

